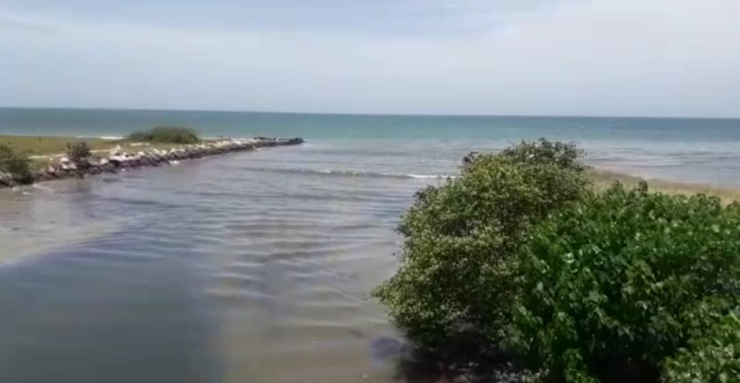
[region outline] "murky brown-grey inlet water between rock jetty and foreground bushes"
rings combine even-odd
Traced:
[[[368,295],[429,180],[290,170],[310,151],[2,190],[0,380],[403,381]]]

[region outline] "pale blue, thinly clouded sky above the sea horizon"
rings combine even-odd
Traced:
[[[0,106],[740,117],[738,0],[0,0]]]

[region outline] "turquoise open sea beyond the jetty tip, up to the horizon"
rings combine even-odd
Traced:
[[[493,151],[521,139],[547,137],[579,142],[588,151],[588,161],[602,168],[687,182],[740,184],[740,120],[732,119],[0,108],[0,134],[121,137],[155,125],[191,126],[204,137],[304,137],[312,148],[326,149],[326,155],[342,165],[320,170],[399,174],[406,169],[433,170],[431,175],[454,171],[468,151]],[[337,151],[346,151],[347,156],[336,157]],[[353,162],[361,164],[344,166]]]

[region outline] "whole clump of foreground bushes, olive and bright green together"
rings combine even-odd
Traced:
[[[733,382],[739,204],[603,187],[582,159],[547,140],[468,157],[417,193],[374,296],[447,363],[474,347],[542,382]]]

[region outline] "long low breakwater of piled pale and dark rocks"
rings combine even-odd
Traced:
[[[256,137],[254,139],[227,139],[195,145],[180,145],[169,149],[141,146],[141,151],[137,153],[127,153],[117,147],[111,149],[107,156],[90,156],[76,162],[67,157],[61,157],[58,162],[37,170],[33,174],[33,179],[34,182],[43,182],[54,179],[84,178],[87,175],[116,173],[127,168],[174,165],[186,159],[199,159],[236,151],[250,151],[255,148],[298,145],[303,142],[304,140],[301,138]],[[16,184],[18,182],[13,179],[13,175],[0,173],[0,187],[16,186]]]

